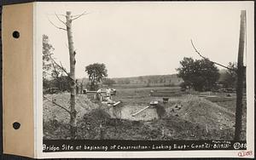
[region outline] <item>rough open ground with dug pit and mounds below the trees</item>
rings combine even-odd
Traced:
[[[119,106],[99,106],[93,94],[77,96],[77,139],[112,140],[232,140],[234,136],[236,94],[180,93],[170,96],[166,104],[162,97],[150,96],[151,90],[180,92],[178,87],[116,88],[113,100]],[[68,106],[69,94],[47,94]],[[201,97],[200,97],[201,96]],[[208,96],[208,97],[206,97]],[[157,106],[140,111],[150,101]],[[243,126],[246,124],[244,103]],[[68,114],[49,100],[44,100],[44,139],[69,139]],[[243,128],[245,140],[245,127]]]

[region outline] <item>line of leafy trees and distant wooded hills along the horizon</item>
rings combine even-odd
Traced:
[[[43,83],[44,89],[55,88],[58,91],[70,92],[70,78],[64,73],[61,66],[56,65],[54,55],[54,47],[49,43],[49,37],[43,35]],[[219,84],[223,88],[236,89],[236,63],[229,63],[229,67],[233,70],[225,70],[220,72],[209,60],[194,60],[184,57],[180,61],[180,67],[177,68],[177,77],[175,75],[162,76],[145,76],[145,77],[125,77],[125,78],[108,78],[108,70],[103,63],[94,63],[85,66],[85,72],[89,77],[90,83],[84,85],[84,82],[78,84],[80,92],[82,89],[96,90],[100,84],[112,86],[113,84],[151,84],[170,83],[180,86],[183,89],[195,89],[196,91],[209,91],[219,88]],[[221,76],[221,78],[220,78]],[[180,79],[183,80],[183,83]]]

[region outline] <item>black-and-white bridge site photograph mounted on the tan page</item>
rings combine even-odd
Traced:
[[[246,142],[250,9],[41,3],[43,140]]]

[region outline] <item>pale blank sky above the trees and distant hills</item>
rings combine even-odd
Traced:
[[[87,77],[85,66],[96,62],[106,65],[108,77],[165,75],[177,73],[183,57],[201,59],[190,39],[210,60],[223,65],[235,62],[241,9],[247,10],[247,39],[251,40],[253,3],[38,3],[36,24],[38,37],[49,36],[56,61],[68,71],[67,32],[55,28],[65,28],[55,13],[88,13],[73,21],[76,77]],[[253,54],[251,42],[247,54]]]

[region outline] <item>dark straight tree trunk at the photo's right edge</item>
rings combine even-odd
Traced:
[[[245,31],[246,31],[246,11],[241,10],[240,22],[240,37],[239,49],[237,59],[237,86],[236,86],[236,129],[235,140],[241,140],[241,116],[242,116],[242,94],[243,94],[243,80],[244,80],[244,67],[243,67],[243,54],[245,45]]]

